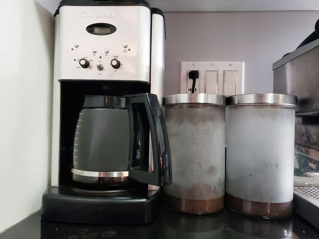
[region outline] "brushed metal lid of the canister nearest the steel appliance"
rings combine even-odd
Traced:
[[[245,94],[227,98],[227,105],[283,105],[297,106],[297,96],[285,94]]]

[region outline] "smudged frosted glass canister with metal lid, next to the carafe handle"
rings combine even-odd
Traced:
[[[226,97],[178,94],[164,97],[173,183],[164,186],[167,208],[209,214],[224,207]]]

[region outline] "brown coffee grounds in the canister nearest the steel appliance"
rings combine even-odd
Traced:
[[[282,219],[293,212],[293,201],[285,203],[265,203],[233,197],[225,192],[225,205],[232,211],[264,219]]]

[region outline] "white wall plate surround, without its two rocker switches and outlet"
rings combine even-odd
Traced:
[[[224,94],[224,71],[237,71],[235,93],[236,95],[244,94],[244,62],[181,62],[180,94],[190,93],[187,91],[188,72],[190,70],[200,71],[200,76],[197,79],[200,82],[199,92],[197,91],[197,93],[205,93],[205,72],[218,71],[219,95]]]

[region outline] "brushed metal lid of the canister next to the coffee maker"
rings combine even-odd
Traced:
[[[163,98],[163,105],[221,105],[226,106],[226,96],[215,94],[177,94]]]

